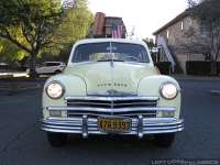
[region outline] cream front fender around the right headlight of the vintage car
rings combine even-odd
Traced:
[[[166,100],[160,95],[161,86],[167,81],[175,84],[178,89],[178,95],[173,100]],[[139,96],[156,96],[156,97],[158,97],[160,100],[158,100],[157,106],[176,108],[175,118],[179,119],[182,94],[180,94],[180,87],[174,78],[172,78],[169,76],[162,76],[162,75],[144,77],[139,82],[138,95]]]

